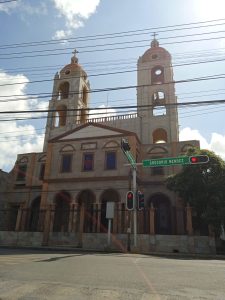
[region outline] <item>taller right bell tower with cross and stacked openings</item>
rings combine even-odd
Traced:
[[[137,104],[144,144],[178,141],[177,97],[170,53],[154,34],[151,47],[138,59]]]

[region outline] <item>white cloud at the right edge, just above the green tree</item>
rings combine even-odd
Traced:
[[[214,132],[208,142],[198,130],[186,127],[180,132],[180,141],[186,140],[199,140],[202,149],[214,151],[225,159],[225,135]]]

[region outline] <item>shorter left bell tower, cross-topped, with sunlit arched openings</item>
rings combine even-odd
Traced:
[[[89,112],[90,84],[87,73],[78,64],[77,51],[71,63],[54,77],[52,99],[45,131],[44,151],[49,139],[62,134],[76,125],[86,123]]]

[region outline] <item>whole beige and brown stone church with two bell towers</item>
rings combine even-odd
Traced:
[[[134,212],[126,208],[133,178],[121,150],[125,139],[137,162],[137,190],[144,194],[144,208],[137,211],[137,250],[196,252],[191,209],[165,186],[167,176],[180,167],[140,164],[199,147],[196,140],[179,141],[171,55],[153,39],[139,57],[135,113],[90,119],[90,92],[88,75],[74,54],[54,77],[43,152],[17,157],[4,230],[17,234],[17,240],[20,235],[27,245],[126,249]],[[107,202],[114,203],[111,245]],[[204,251],[210,252],[213,247],[205,239]]]

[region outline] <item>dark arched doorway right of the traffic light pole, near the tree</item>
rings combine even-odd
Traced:
[[[155,233],[171,234],[171,204],[169,198],[161,193],[153,195],[149,207],[155,208]]]

